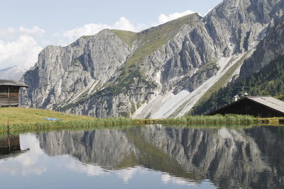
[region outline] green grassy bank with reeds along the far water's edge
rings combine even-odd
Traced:
[[[57,118],[61,121],[48,121]],[[124,127],[125,125],[187,124],[187,125],[252,125],[254,118],[247,115],[186,116],[164,120],[135,120],[130,118],[98,119],[89,116],[69,115],[50,110],[31,108],[0,108],[0,132],[8,127],[12,131],[39,131],[56,129],[87,129],[102,127]]]

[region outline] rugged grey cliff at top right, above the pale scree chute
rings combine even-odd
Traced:
[[[225,0],[210,11],[204,21],[224,55],[230,43],[233,53],[246,52],[261,38],[261,31],[280,8],[283,1],[278,0]]]

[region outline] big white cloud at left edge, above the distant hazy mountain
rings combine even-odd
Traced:
[[[0,40],[0,67],[18,65],[23,69],[29,69],[37,62],[41,50],[43,47],[40,47],[35,39],[28,35],[20,35],[12,42]]]

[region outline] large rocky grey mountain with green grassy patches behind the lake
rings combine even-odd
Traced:
[[[225,0],[140,33],[102,30],[48,46],[26,72],[21,102],[98,118],[188,113],[230,81],[283,55],[281,0]],[[279,38],[279,39],[278,39]]]

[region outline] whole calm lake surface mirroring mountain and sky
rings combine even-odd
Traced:
[[[21,134],[0,139],[0,182],[29,189],[284,188],[284,128]]]

